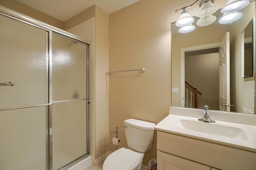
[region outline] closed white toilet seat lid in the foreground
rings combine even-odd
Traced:
[[[140,164],[142,154],[121,148],[111,153],[103,163],[103,170],[134,170]]]

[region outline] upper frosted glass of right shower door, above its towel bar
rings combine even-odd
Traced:
[[[86,98],[87,46],[52,35],[52,101]]]

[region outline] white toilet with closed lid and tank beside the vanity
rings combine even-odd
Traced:
[[[155,123],[128,119],[124,121],[128,149],[112,152],[103,163],[103,170],[140,170],[144,153],[151,149]]]

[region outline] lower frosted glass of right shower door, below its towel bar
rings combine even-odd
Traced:
[[[86,100],[52,105],[52,166],[57,170],[87,153]]]

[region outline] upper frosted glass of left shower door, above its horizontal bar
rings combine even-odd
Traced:
[[[48,32],[0,15],[0,109],[46,102]]]

